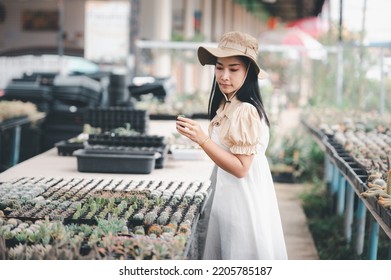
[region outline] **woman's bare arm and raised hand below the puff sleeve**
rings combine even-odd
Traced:
[[[176,129],[183,136],[200,144],[205,153],[220,168],[238,178],[243,178],[247,175],[254,155],[232,154],[221,148],[212,140],[206,141],[209,136],[202,130],[198,122],[189,118],[178,117]]]

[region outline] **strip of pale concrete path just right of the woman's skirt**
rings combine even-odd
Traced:
[[[282,227],[290,260],[319,259],[315,243],[308,229],[300,194],[305,190],[301,184],[275,183]]]

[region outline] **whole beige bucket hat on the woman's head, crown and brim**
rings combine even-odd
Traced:
[[[257,63],[258,41],[249,34],[232,31],[225,33],[217,48],[199,47],[198,60],[202,65],[215,65],[218,57],[245,56],[255,66],[259,79],[265,79],[268,74]]]

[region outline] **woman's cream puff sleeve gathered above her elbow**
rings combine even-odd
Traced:
[[[260,134],[261,119],[257,109],[249,103],[242,103],[231,119],[228,132],[230,151],[234,154],[256,154]]]

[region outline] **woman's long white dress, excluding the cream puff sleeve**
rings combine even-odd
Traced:
[[[246,177],[218,167],[203,259],[287,259],[274,184],[265,151],[269,127],[262,122],[258,153]],[[228,150],[214,127],[212,140]]]

